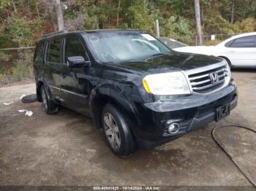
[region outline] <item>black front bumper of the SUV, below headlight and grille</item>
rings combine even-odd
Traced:
[[[147,103],[138,106],[140,125],[134,129],[140,147],[152,147],[183,136],[216,120],[216,109],[230,104],[230,110],[238,103],[236,83],[207,95],[194,94],[173,97],[170,101]],[[167,132],[167,122],[180,125],[177,133]]]

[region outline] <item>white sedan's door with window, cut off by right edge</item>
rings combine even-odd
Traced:
[[[227,55],[233,66],[256,66],[256,35],[244,36],[233,40],[227,47]]]

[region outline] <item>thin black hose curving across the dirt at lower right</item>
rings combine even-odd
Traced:
[[[241,171],[241,174],[243,174],[246,179],[252,183],[252,185],[254,187],[256,187],[256,182],[254,179],[252,179],[252,177],[249,175],[249,174],[246,174],[240,167],[239,165],[236,163],[235,160],[233,160],[233,157],[227,152],[227,150],[225,150],[225,147],[223,147],[223,145],[221,143],[219,143],[219,141],[217,141],[216,137],[215,137],[215,130],[217,130],[217,128],[227,128],[227,127],[233,127],[233,128],[244,128],[246,130],[250,130],[252,131],[253,133],[256,133],[256,130],[253,130],[251,128],[246,128],[244,126],[241,126],[241,125],[222,125],[222,126],[218,126],[216,128],[214,128],[212,131],[211,131],[211,136],[212,138],[214,139],[214,141],[216,142],[216,144],[219,146],[220,149],[222,149],[223,152],[225,152],[225,154],[227,155],[227,157],[230,158],[230,160],[236,165],[236,167],[239,169],[239,171]]]

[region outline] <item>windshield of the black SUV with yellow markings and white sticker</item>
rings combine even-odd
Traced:
[[[165,47],[150,34],[138,31],[100,31],[88,34],[89,43],[102,62],[120,62],[168,54]]]

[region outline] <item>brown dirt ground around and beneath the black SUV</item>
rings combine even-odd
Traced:
[[[175,141],[143,149],[131,157],[110,152],[102,131],[69,109],[47,115],[41,104],[22,104],[20,95],[35,85],[0,88],[0,185],[252,185],[211,138],[224,124],[256,129],[256,71],[233,71],[238,107],[221,122],[212,122]],[[5,106],[3,103],[14,101]],[[19,113],[29,109],[31,117]],[[217,130],[227,147],[256,181],[255,135],[235,128]]]

